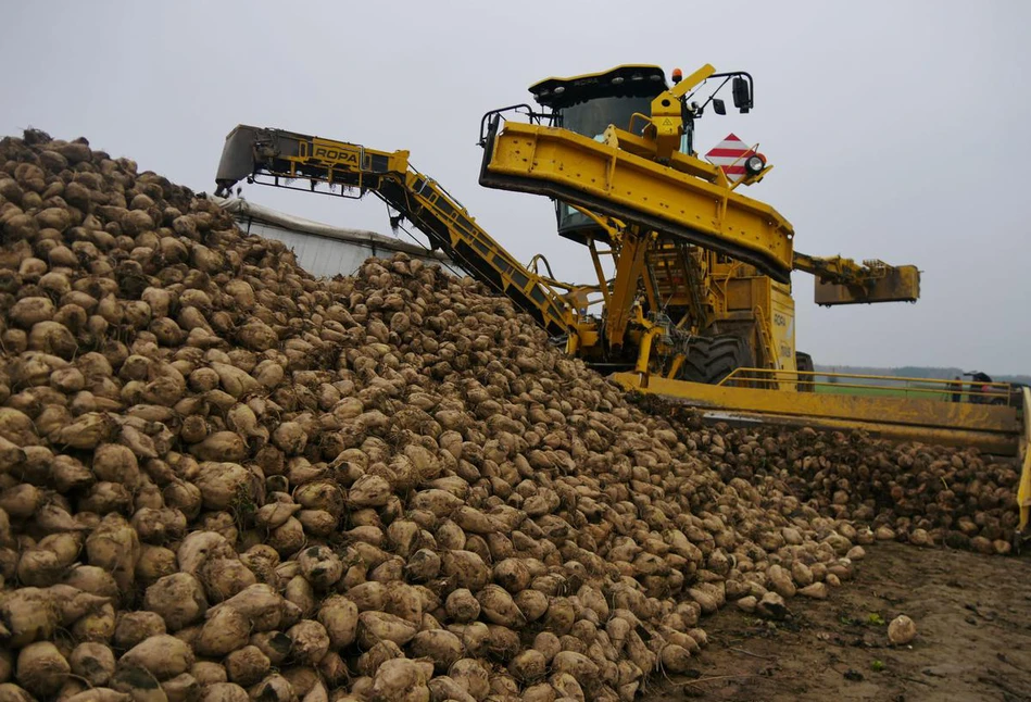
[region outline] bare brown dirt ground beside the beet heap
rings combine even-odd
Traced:
[[[1031,556],[988,557],[891,543],[823,601],[794,598],[776,624],[732,607],[703,620],[709,647],[694,679],[647,702],[971,702],[1031,700]],[[910,616],[911,648],[888,647]]]

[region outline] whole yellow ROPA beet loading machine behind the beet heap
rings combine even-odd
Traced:
[[[919,272],[796,251],[788,220],[741,193],[772,167],[757,146],[725,141],[709,160],[694,149],[697,121],[726,113],[717,97],[726,86],[734,108],[751,111],[747,73],[705,65],[687,77],[674,72],[670,84],[658,66],[623,65],[542,80],[530,87],[537,106],[483,115],[480,184],[554,200],[559,236],[581,243],[591,259],[596,280],[584,285],[555,279],[540,255],[520,264],[414,170],[407,151],[240,125],[226,138],[216,180],[221,192],[244,179],[345,197],[373,192],[397,213],[392,223],[410,221],[568,353],[628,390],[692,404],[709,418],[863,428],[1020,455],[1026,523],[1027,390],[982,384],[964,392],[973,401],[948,402],[945,381],[829,378],[795,350],[792,271],[816,276],[816,302],[825,305],[915,302]],[[905,390],[814,391],[829,381],[865,390],[902,383]]]

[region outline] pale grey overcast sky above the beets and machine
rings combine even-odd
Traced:
[[[1031,372],[1031,2],[26,2],[0,0],[0,134],[86,136],[214,189],[239,123],[407,149],[520,260],[592,278],[551,203],[477,184],[488,110],[548,76],[712,63],[756,82],[707,114],[776,166],[747,195],[806,253],[914,263],[916,304],[819,309],[793,275],[797,344],[820,364]],[[384,205],[251,186],[255,202],[389,233]]]

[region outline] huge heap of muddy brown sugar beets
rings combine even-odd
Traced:
[[[973,451],[702,427],[417,260],[314,279],[0,141],[0,700],[631,700],[863,546],[1005,552]]]

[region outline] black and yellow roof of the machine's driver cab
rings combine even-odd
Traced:
[[[662,67],[631,63],[600,73],[544,78],[531,85],[530,92],[539,104],[562,110],[595,98],[653,98],[666,87]]]

